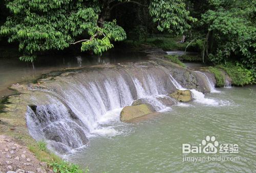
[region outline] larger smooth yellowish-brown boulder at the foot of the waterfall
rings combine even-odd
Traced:
[[[153,110],[147,104],[125,106],[120,113],[120,120],[126,122],[151,113]]]

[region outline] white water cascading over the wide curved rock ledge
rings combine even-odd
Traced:
[[[47,95],[49,104],[28,108],[29,132],[36,140],[48,141],[59,153],[81,147],[93,136],[127,133],[129,129],[119,120],[124,106],[143,98],[156,111],[166,111],[170,109],[168,103],[174,102],[166,94],[185,89],[170,74],[167,67],[141,62],[60,76],[46,82],[48,89],[39,89]],[[196,102],[218,105],[204,98],[203,93],[190,91]],[[36,103],[40,103],[40,98]]]

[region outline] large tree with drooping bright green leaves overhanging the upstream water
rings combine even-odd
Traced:
[[[8,42],[19,42],[20,60],[33,61],[36,54],[48,50],[63,50],[81,43],[81,51],[101,54],[113,47],[112,41],[126,38],[116,20],[109,20],[112,9],[120,4],[147,6],[159,31],[183,33],[190,28],[183,0],[6,0],[11,15],[0,34]],[[144,3],[144,4],[143,4]],[[82,38],[80,40],[77,40]]]

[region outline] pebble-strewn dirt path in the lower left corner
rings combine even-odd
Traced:
[[[1,172],[53,172],[45,162],[37,160],[26,146],[19,145],[7,136],[0,135],[0,173]]]

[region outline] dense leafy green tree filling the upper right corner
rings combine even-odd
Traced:
[[[209,51],[209,60],[237,60],[256,77],[256,1],[211,0],[209,4],[201,19],[208,30],[205,52]]]

